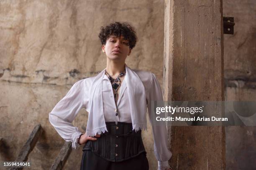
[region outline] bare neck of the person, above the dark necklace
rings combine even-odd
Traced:
[[[125,62],[115,62],[113,60],[107,60],[107,68],[108,74],[112,77],[117,77],[120,72],[125,70]]]

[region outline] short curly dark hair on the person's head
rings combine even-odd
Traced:
[[[106,41],[108,40],[110,35],[115,35],[117,37],[121,37],[121,35],[123,35],[124,39],[128,40],[128,45],[130,49],[133,49],[133,47],[135,47],[136,45],[136,31],[135,28],[129,23],[115,22],[107,25],[105,28],[100,27],[99,38],[102,45],[106,44]]]

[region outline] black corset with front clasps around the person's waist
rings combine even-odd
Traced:
[[[106,122],[108,132],[102,133],[97,140],[88,140],[84,150],[91,150],[96,155],[111,162],[121,162],[146,153],[141,130],[135,132],[132,123]]]

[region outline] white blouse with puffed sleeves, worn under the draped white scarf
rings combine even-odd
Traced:
[[[131,90],[129,91],[127,87],[127,84],[129,84],[129,80],[127,80],[127,73],[130,69],[127,69],[129,69],[129,67],[126,66],[126,75],[120,87],[120,94],[118,97],[117,105],[115,105],[111,83],[106,75],[102,75],[102,108],[104,114],[103,120],[105,119],[105,122],[133,122],[130,107],[131,102],[129,102],[128,97],[128,92]],[[102,72],[104,72],[104,70]],[[156,80],[156,76],[151,72],[141,70],[132,70],[132,72],[135,72],[140,78],[141,82],[143,83],[146,95],[146,102],[144,102],[146,103],[146,106],[139,104],[133,107],[148,107],[148,110],[150,110],[152,100],[163,100],[161,88],[158,81]],[[129,76],[129,79],[131,79],[132,74]],[[89,95],[91,94],[90,90],[92,90],[92,83],[94,80],[95,77],[89,77],[76,82],[71,87],[67,95],[61,99],[49,113],[49,121],[51,125],[54,126],[56,131],[64,140],[72,142],[72,148],[77,147],[76,141],[81,134],[79,129],[72,125],[72,121],[75,119],[81,108],[85,108],[87,112],[89,112],[90,117]],[[100,103],[96,103],[95,105],[100,107]],[[116,112],[118,112],[117,116]],[[151,112],[148,113],[151,114]],[[149,118],[150,117],[151,116],[149,115]],[[136,119],[146,119],[146,117],[137,116]],[[145,121],[146,120],[138,120],[137,122]],[[89,122],[87,122],[87,128],[88,123]],[[156,159],[158,160],[159,169],[161,169],[160,167],[168,167],[168,160],[172,157],[172,153],[167,148],[166,126],[153,126],[152,129],[154,138],[154,153]]]

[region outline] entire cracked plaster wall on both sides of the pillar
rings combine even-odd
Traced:
[[[224,35],[226,100],[255,100],[255,15],[253,0],[223,1],[223,16],[234,17],[236,23],[234,35]],[[1,0],[0,18],[0,137],[5,140],[0,161],[15,160],[33,127],[41,123],[44,132],[28,161],[37,169],[51,166],[64,140],[49,124],[48,113],[74,82],[104,69],[97,37],[102,25],[131,22],[138,44],[127,64],[154,72],[162,82],[163,0]],[[82,109],[73,124],[82,130],[85,120]],[[228,168],[250,165],[243,158],[256,157],[255,128],[227,128],[226,133]],[[143,140],[151,169],[156,169],[151,135],[148,129]],[[65,169],[79,169],[81,149],[72,151]]]

